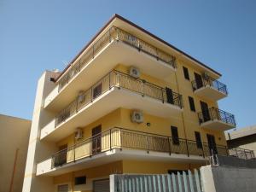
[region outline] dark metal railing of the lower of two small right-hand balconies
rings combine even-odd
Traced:
[[[220,120],[226,124],[236,126],[235,115],[224,112],[223,110],[220,110],[218,108],[208,108],[207,110],[198,113],[198,118],[199,118],[200,124],[210,120]]]

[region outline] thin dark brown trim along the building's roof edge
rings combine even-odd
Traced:
[[[89,45],[97,38],[97,36],[98,36],[98,35],[109,25],[109,23],[111,23],[115,18],[119,18],[120,20],[123,20],[123,21],[129,23],[131,26],[134,26],[134,27],[136,27],[137,29],[139,29],[139,30],[141,30],[141,31],[143,31],[143,32],[145,32],[145,33],[147,33],[149,36],[151,36],[151,37],[153,37],[153,38],[159,40],[161,43],[166,44],[167,46],[171,47],[172,49],[177,50],[177,51],[180,52],[181,54],[186,55],[187,57],[189,57],[189,59],[191,59],[191,60],[193,60],[193,61],[195,61],[195,62],[198,62],[199,64],[201,64],[201,66],[207,67],[207,69],[211,70],[213,73],[216,73],[216,74],[218,74],[219,76],[221,76],[221,73],[218,73],[217,71],[213,70],[211,67],[208,67],[206,64],[202,63],[201,61],[196,60],[194,57],[192,57],[192,56],[186,54],[186,53],[183,52],[181,49],[177,49],[177,48],[176,48],[175,46],[173,46],[172,44],[169,44],[169,43],[167,43],[165,40],[163,40],[163,39],[161,39],[161,38],[158,38],[157,36],[155,36],[155,35],[152,34],[151,32],[148,32],[147,30],[143,29],[141,26],[137,26],[135,23],[131,22],[130,20],[127,20],[127,19],[125,19],[124,17],[115,14],[115,15],[113,15],[113,16],[111,17],[110,20],[108,20],[108,22],[101,28],[101,30],[96,33],[96,35],[90,40],[90,42],[84,46],[84,48],[79,52],[79,54],[76,55],[76,56],[73,58],[73,60],[67,65],[67,67],[64,68],[64,70],[63,70],[63,71],[61,72],[61,74],[55,79],[55,81],[57,81],[58,79],[61,78],[62,74],[67,71],[67,69],[71,66],[71,64],[73,63],[73,61],[75,61],[75,60],[79,57],[79,55],[81,55],[81,54],[84,52],[84,49],[86,49],[86,48],[89,47]]]

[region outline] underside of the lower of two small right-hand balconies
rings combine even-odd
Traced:
[[[209,120],[205,123],[202,123],[201,127],[211,129],[213,131],[214,130],[215,131],[227,131],[227,130],[230,130],[232,128],[235,128],[236,125],[225,123],[222,120],[213,119],[213,120]]]

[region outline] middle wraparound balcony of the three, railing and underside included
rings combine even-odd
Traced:
[[[41,139],[60,140],[117,108],[139,109],[163,118],[180,113],[182,96],[170,89],[112,71],[71,102],[41,130]]]

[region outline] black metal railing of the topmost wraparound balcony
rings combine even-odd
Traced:
[[[160,60],[165,62],[167,65],[176,68],[176,58],[173,55],[167,54],[165,51],[160,50],[154,47],[151,44],[143,41],[140,38],[130,34],[129,32],[125,32],[122,29],[119,29],[116,26],[112,26],[108,32],[102,35],[102,38],[96,41],[95,44],[88,50],[86,50],[84,56],[77,61],[66,74],[64,74],[59,81],[59,91],[68,84],[68,82],[73,79],[73,77],[83,69],[83,67],[102,50],[108,44],[110,44],[113,40],[122,41],[125,44],[131,45],[135,49],[139,51],[143,51],[144,53],[151,55],[156,58],[156,60]]]

